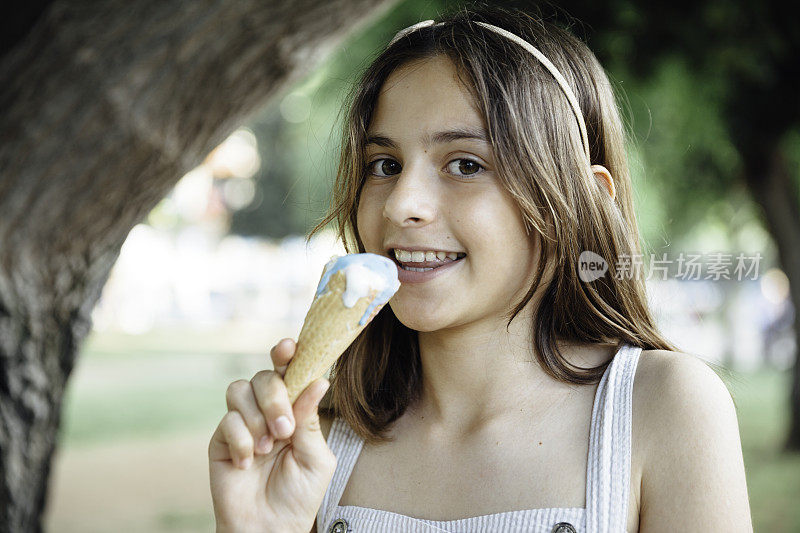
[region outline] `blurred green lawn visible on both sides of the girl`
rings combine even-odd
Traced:
[[[210,438],[226,411],[227,385],[270,368],[268,350],[279,339],[263,330],[93,335],[67,390],[60,445],[80,449],[198,430]],[[800,454],[781,451],[789,375],[733,376],[755,531],[800,531]],[[181,522],[166,517],[162,530],[185,528]]]

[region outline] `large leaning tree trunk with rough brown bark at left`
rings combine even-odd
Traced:
[[[393,3],[54,2],[0,58],[0,531],[42,530],[64,388],[130,229]]]

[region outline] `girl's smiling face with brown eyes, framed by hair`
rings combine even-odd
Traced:
[[[451,61],[437,56],[390,75],[367,137],[358,232],[367,252],[399,260],[397,318],[417,331],[504,320],[530,287],[538,247]]]

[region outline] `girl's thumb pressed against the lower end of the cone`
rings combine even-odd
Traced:
[[[319,402],[330,387],[325,378],[314,381],[294,402],[292,410],[296,428],[292,436],[295,458],[307,468],[317,468],[330,454],[319,423]]]

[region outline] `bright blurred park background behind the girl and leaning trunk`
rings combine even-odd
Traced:
[[[637,4],[618,3],[617,16],[635,20]],[[708,16],[730,16],[710,5]],[[49,531],[213,530],[207,446],[225,389],[269,368],[270,346],[297,335],[322,266],[342,252],[331,232],[308,245],[303,236],[328,205],[346,91],[394,32],[443,8],[401,2],[359,30],[133,228],[69,382]],[[670,272],[653,276],[648,291],[670,340],[729,370],[756,531],[800,531],[800,456],[783,451],[794,310],[759,207],[731,177],[741,162],[720,105],[729,87],[719,72],[698,75],[678,49],[634,73],[641,43],[593,37],[601,29],[590,20],[573,27],[619,90],[648,256],[760,257],[742,279]],[[800,131],[782,142],[800,180]]]

